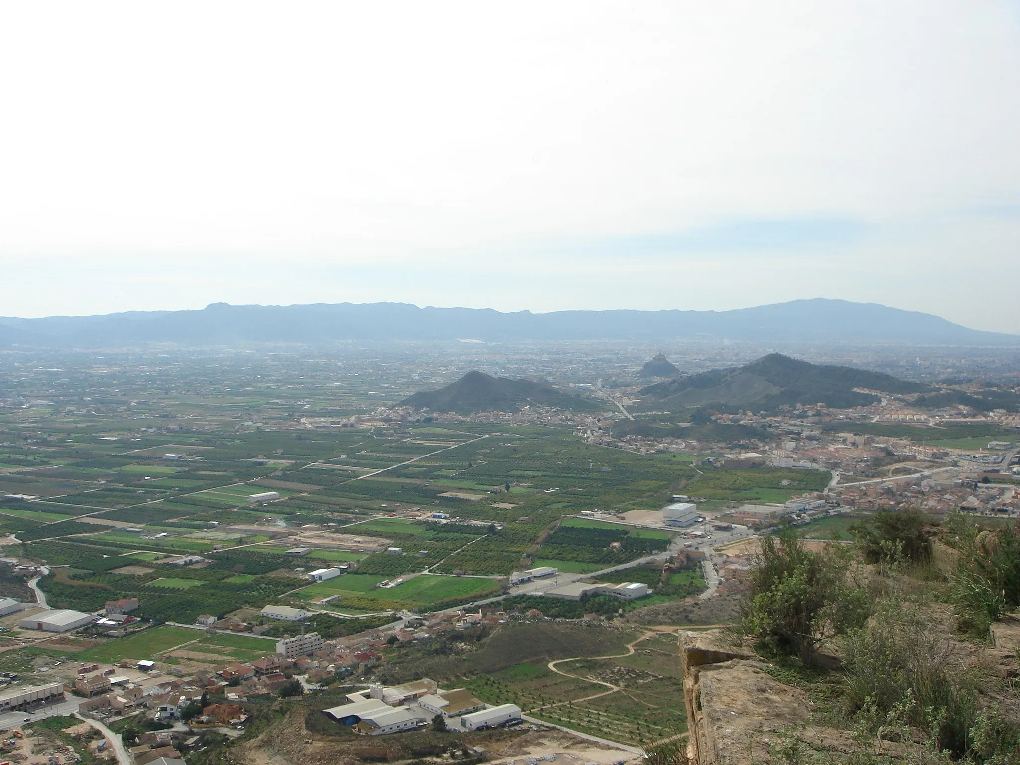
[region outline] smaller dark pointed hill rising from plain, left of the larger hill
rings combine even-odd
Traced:
[[[439,391],[423,391],[398,406],[432,412],[519,412],[524,406],[552,406],[559,409],[593,410],[598,405],[579,396],[570,396],[552,386],[529,379],[493,377],[471,371]]]

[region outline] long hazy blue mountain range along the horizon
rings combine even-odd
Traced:
[[[554,311],[418,308],[405,303],[232,306],[99,316],[0,318],[0,347],[118,348],[337,341],[563,341],[666,339],[1020,346],[1020,335],[979,332],[874,303],[796,300],[732,311]]]

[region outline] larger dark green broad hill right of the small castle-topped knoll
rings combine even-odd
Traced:
[[[854,389],[888,394],[929,393],[934,389],[890,374],[852,366],[811,364],[772,353],[744,366],[713,369],[659,382],[641,392],[657,408],[725,405],[768,411],[783,404],[825,404],[833,409],[867,406],[877,396]]]

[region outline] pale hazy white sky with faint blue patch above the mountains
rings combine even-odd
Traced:
[[[838,297],[1020,333],[1020,4],[5,3],[0,314]]]

